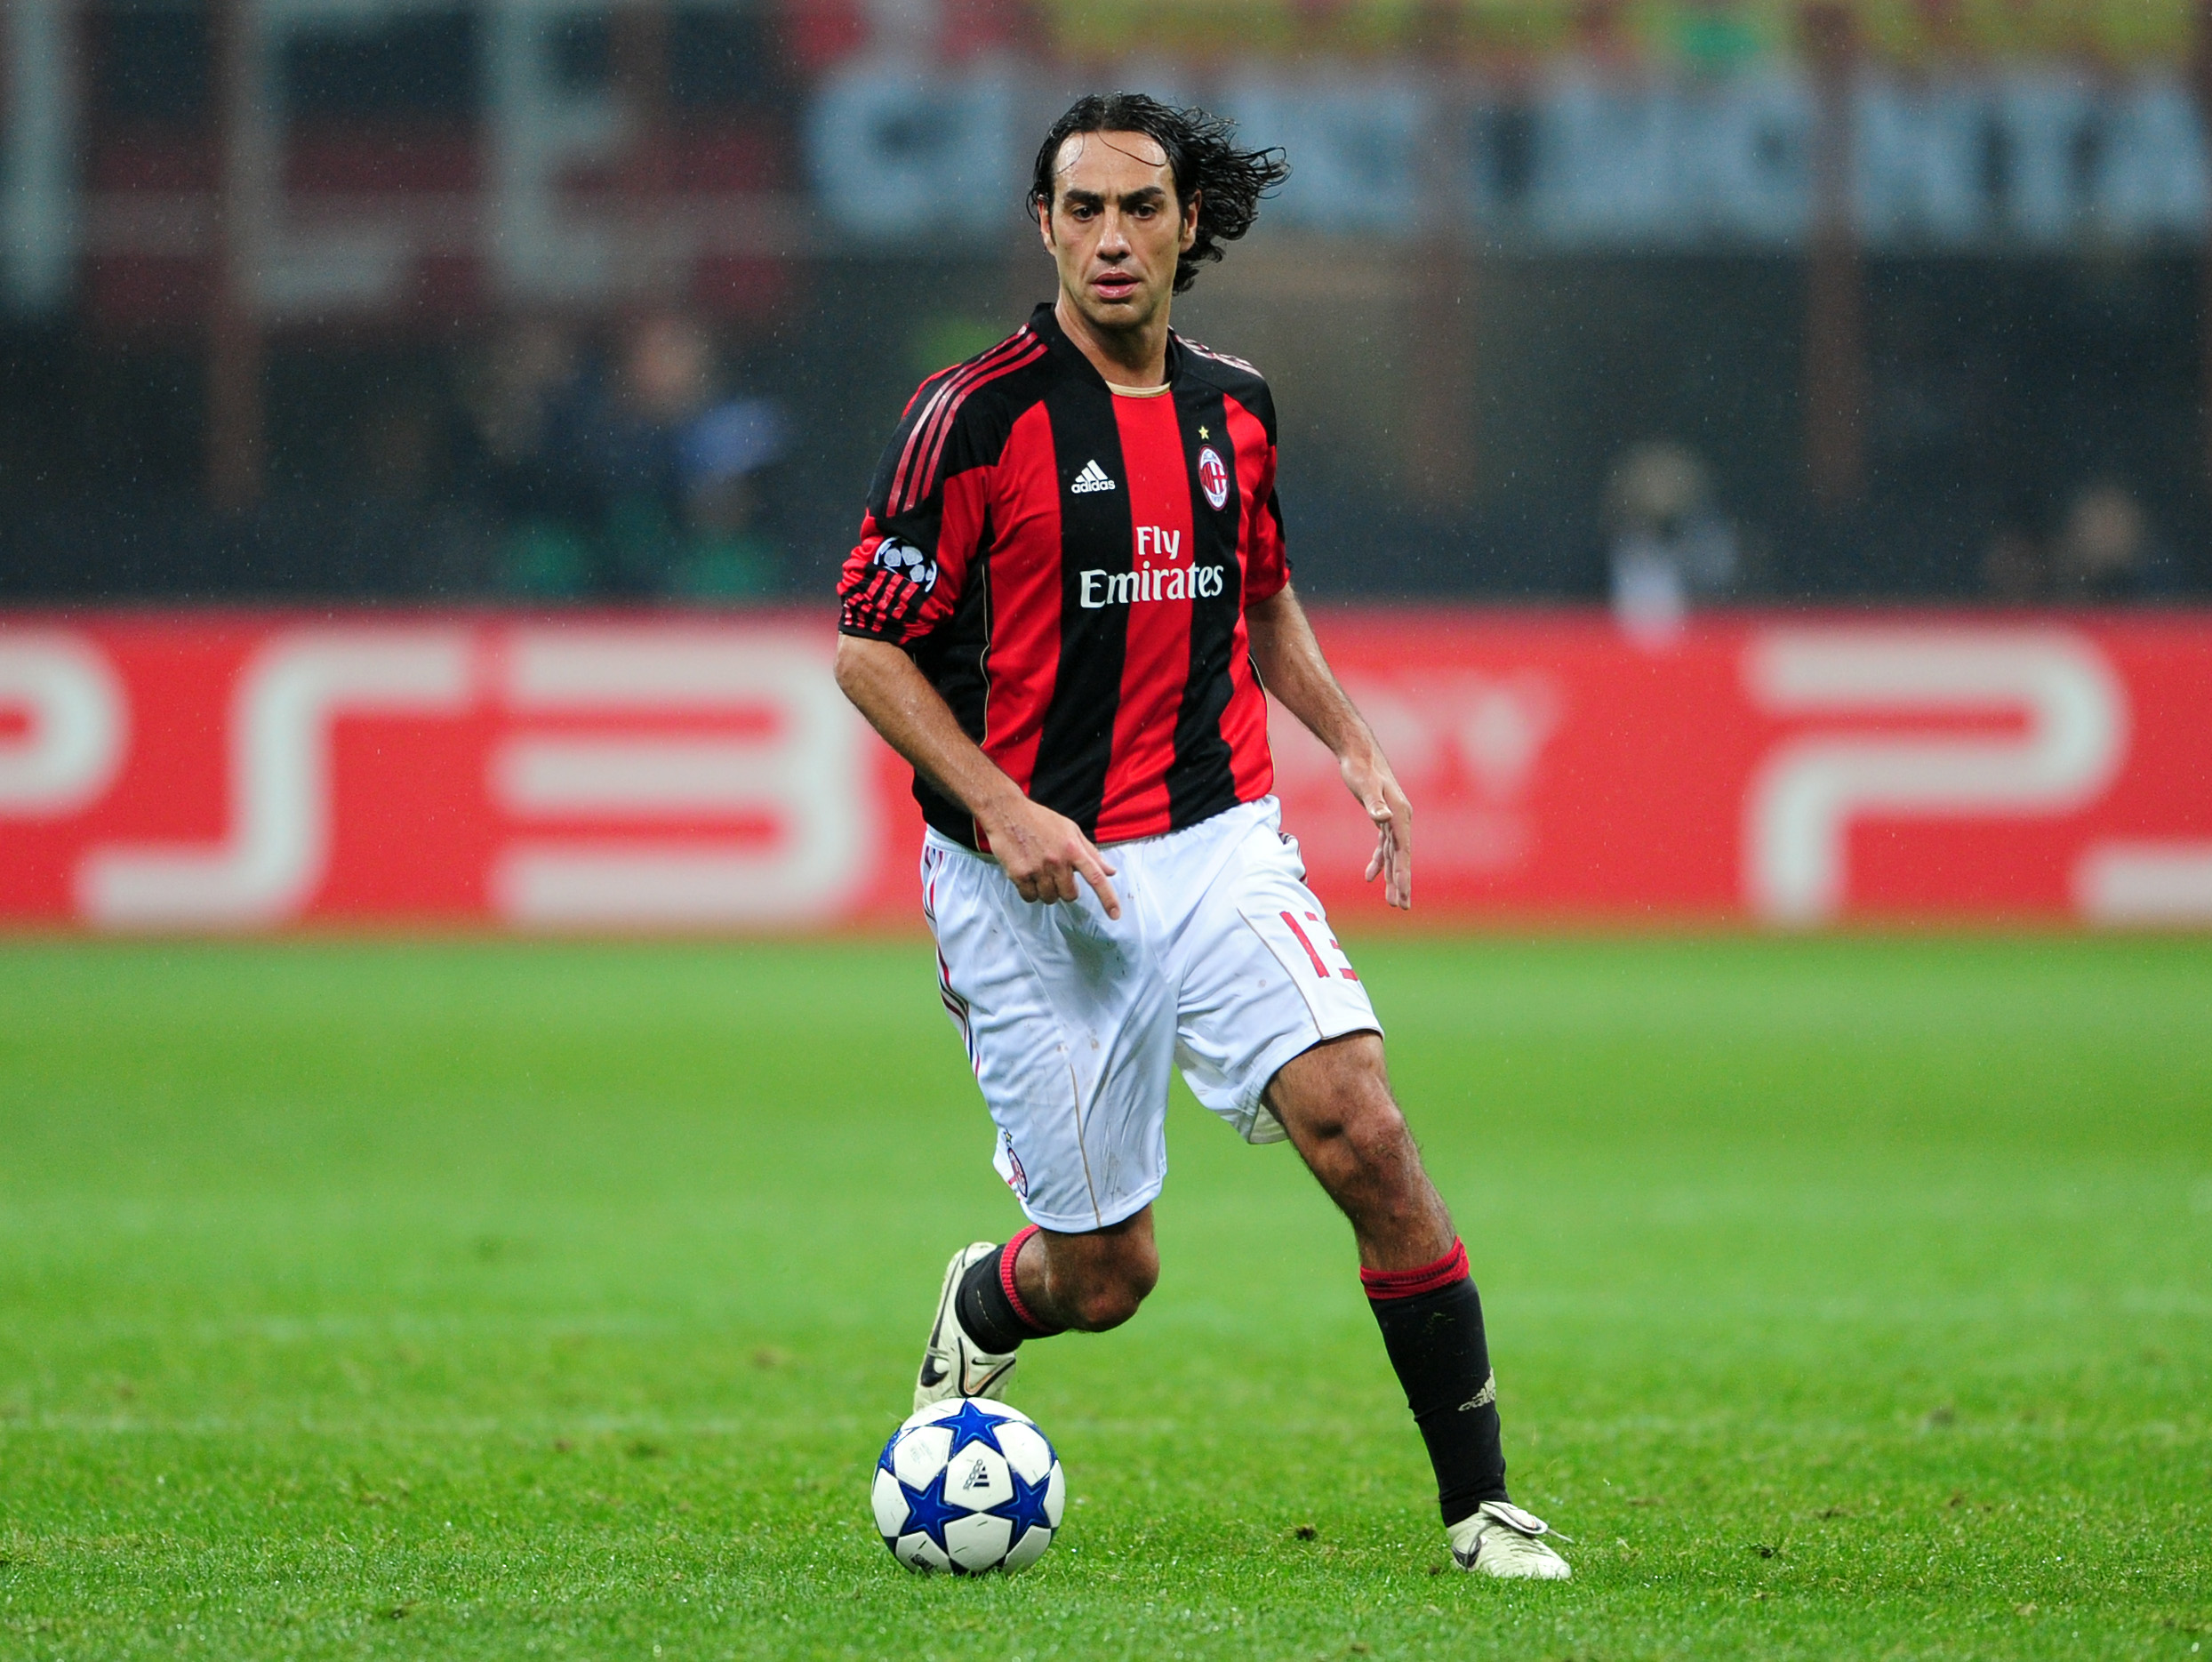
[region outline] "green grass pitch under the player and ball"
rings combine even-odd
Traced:
[[[1011,1197],[927,945],[0,947],[0,1658],[2212,1651],[2212,943],[1354,943],[1575,1580],[1170,1115],[1022,1578],[867,1523]],[[1307,1538],[1310,1531],[1310,1538]]]

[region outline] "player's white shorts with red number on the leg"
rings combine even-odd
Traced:
[[[945,1009],[998,1124],[993,1164],[1044,1228],[1119,1224],[1168,1175],[1168,1067],[1245,1142],[1283,1126],[1261,1095],[1327,1038],[1383,1031],[1305,887],[1274,797],[1115,843],[1121,918],[1035,905],[998,861],[929,832],[922,910]]]

